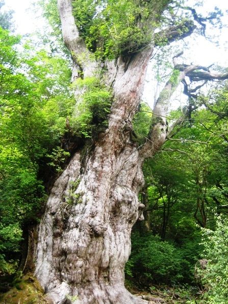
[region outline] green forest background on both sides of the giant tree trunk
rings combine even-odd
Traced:
[[[10,32],[12,12],[2,12],[3,5],[0,2],[0,287],[6,292],[21,276],[28,230],[39,222],[50,186],[80,142],[92,144],[106,128],[111,92],[95,78],[71,83],[70,55],[61,41],[55,1],[43,4],[57,37],[45,37],[48,51],[37,51],[34,43]],[[86,111],[80,117],[74,115],[75,85],[87,88],[82,103]],[[146,206],[145,220],[133,229],[126,285],[155,294],[179,286],[185,302],[197,296],[200,302],[225,303],[227,83],[214,83],[207,93],[189,98],[187,118],[144,164],[140,200]],[[182,111],[171,111],[167,125],[179,120]],[[142,103],[134,118],[138,146],[152,115]],[[208,260],[205,269],[199,259]]]

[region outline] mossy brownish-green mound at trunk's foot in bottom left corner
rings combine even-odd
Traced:
[[[18,282],[19,281],[19,282]],[[15,282],[15,286],[0,297],[3,304],[48,304],[44,290],[33,276],[26,275]]]

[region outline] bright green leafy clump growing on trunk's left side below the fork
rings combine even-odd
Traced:
[[[78,79],[75,86],[81,95],[70,120],[72,129],[78,136],[91,137],[106,129],[112,93],[95,77]]]

